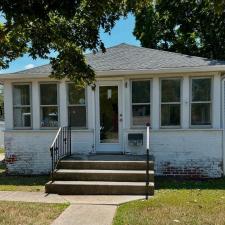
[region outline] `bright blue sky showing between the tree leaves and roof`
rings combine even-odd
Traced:
[[[132,34],[134,29],[135,19],[132,15],[129,15],[126,19],[120,19],[113,28],[111,35],[104,32],[100,32],[100,37],[103,40],[105,46],[111,47],[120,43],[127,43],[131,45],[140,45],[140,42],[136,40]],[[0,73],[12,73],[20,70],[30,69],[36,66],[48,64],[48,60],[36,59],[33,60],[28,55],[24,55],[21,58],[13,61],[9,68],[6,70],[0,70]]]

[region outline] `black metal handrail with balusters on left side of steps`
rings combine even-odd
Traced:
[[[60,127],[54,141],[50,147],[51,158],[52,158],[52,171],[57,167],[58,162],[71,155],[71,127]],[[53,178],[53,176],[52,176]]]

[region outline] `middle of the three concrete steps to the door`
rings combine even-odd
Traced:
[[[54,180],[61,181],[127,181],[145,182],[145,170],[76,170],[58,169]],[[154,181],[154,171],[149,171],[149,181]]]

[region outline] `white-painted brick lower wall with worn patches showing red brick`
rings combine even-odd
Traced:
[[[131,147],[127,133],[143,132],[144,144]],[[145,154],[145,130],[127,131],[126,152]],[[54,131],[6,131],[6,165],[10,174],[46,174],[51,169],[49,146]],[[222,130],[156,130],[150,132],[150,151],[156,175],[222,176]],[[93,151],[93,132],[72,132],[72,153]]]

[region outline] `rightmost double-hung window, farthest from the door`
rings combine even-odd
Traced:
[[[191,126],[210,126],[212,107],[212,79],[191,79]]]

